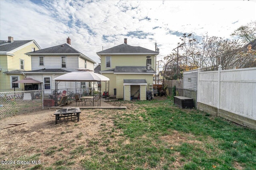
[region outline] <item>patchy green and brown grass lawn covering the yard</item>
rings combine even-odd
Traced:
[[[110,102],[128,106],[123,111],[98,109],[90,119],[100,123],[90,140],[80,122],[72,122],[58,135],[74,134],[66,143],[52,143],[42,153],[24,150],[27,160],[50,164],[23,166],[45,170],[255,170],[256,131],[196,109],[179,109],[170,99]],[[80,129],[81,131],[76,131]],[[53,137],[54,138],[54,137]],[[67,150],[68,148],[68,150]],[[2,150],[1,150],[2,151]],[[65,152],[64,152],[65,151]],[[1,152],[8,156],[8,153]],[[57,157],[58,156],[58,157]],[[2,156],[1,156],[2,158]],[[17,160],[18,155],[9,155]],[[0,166],[0,169],[20,166]]]

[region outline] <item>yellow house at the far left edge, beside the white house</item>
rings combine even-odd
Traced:
[[[0,92],[24,90],[24,84],[12,82],[22,80],[22,72],[31,70],[31,57],[25,53],[41,49],[35,40],[0,40]]]

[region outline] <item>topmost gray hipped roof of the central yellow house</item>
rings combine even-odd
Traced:
[[[96,54],[100,55],[100,54],[106,54],[106,53],[154,53],[154,54],[158,54],[156,51],[145,49],[143,47],[134,47],[134,46],[127,45],[127,44],[121,44],[121,45],[112,47],[110,49],[100,51]]]

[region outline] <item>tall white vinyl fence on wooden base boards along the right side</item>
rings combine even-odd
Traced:
[[[198,109],[256,128],[256,68],[201,72]]]

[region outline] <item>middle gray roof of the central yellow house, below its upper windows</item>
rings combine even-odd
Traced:
[[[136,72],[136,73],[156,73],[155,70],[146,70],[146,66],[116,66],[114,73],[119,72]]]

